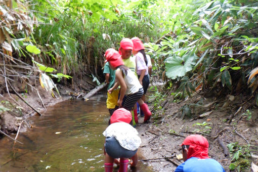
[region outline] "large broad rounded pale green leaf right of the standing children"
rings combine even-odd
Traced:
[[[191,55],[191,52],[182,58],[176,55],[167,58],[165,63],[166,76],[171,79],[176,79],[178,76],[185,76],[195,65],[195,59],[196,55]]]

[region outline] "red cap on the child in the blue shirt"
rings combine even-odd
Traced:
[[[201,135],[190,135],[186,137],[186,139],[180,146],[182,145],[190,145],[188,149],[187,159],[191,157],[197,157],[201,159],[209,158],[209,143],[207,139]]]

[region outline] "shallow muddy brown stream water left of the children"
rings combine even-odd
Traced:
[[[18,137],[24,145],[0,140],[0,171],[104,171],[105,100],[99,95],[87,102],[64,101],[31,117],[32,128]],[[139,162],[128,171],[152,170]]]

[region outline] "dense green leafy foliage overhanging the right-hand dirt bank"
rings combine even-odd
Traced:
[[[187,5],[190,9],[190,3]],[[180,81],[182,93],[190,93],[186,80],[198,89],[221,85],[234,92],[237,83],[247,88],[245,77],[258,66],[257,5],[237,0],[194,2],[184,15],[174,13],[180,19],[176,17],[178,22],[169,36],[162,37],[155,47],[148,44],[148,51],[156,56],[156,62],[166,62],[166,76]],[[195,58],[187,59],[191,65],[185,65],[183,57],[190,51]],[[164,67],[160,66],[158,74],[162,75]],[[257,88],[255,79],[250,82],[253,90]]]

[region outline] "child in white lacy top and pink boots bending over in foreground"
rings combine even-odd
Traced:
[[[106,137],[104,145],[105,171],[112,172],[115,158],[120,158],[119,172],[126,172],[128,158],[133,160],[131,166],[138,163],[137,150],[141,145],[141,139],[137,130],[130,125],[132,123],[131,112],[120,108],[114,111],[110,117],[110,125],[103,132]]]

